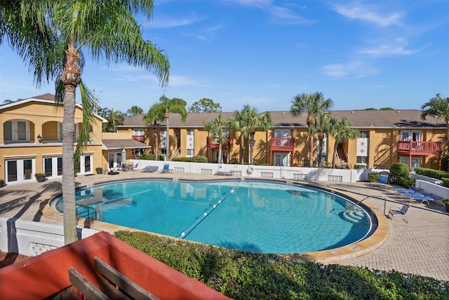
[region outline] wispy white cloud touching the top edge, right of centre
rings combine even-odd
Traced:
[[[389,27],[392,25],[400,25],[403,13],[384,13],[378,6],[362,5],[359,3],[351,4],[333,4],[333,10],[350,20],[361,20],[369,22],[380,27]]]

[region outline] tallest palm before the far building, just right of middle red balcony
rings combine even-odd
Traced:
[[[299,94],[293,97],[290,112],[293,116],[301,116],[303,112],[307,112],[307,126],[309,134],[309,168],[314,166],[314,134],[316,116],[323,111],[328,111],[332,107],[333,101],[325,100],[323,93]]]

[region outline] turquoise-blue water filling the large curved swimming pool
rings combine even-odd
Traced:
[[[76,199],[101,221],[260,253],[328,250],[356,243],[372,228],[367,212],[349,200],[284,182],[145,179],[80,189]],[[52,205],[62,212],[62,199]]]

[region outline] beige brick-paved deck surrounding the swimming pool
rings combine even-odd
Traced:
[[[139,170],[120,172],[119,175],[89,175],[75,178],[76,186],[96,182],[129,178],[185,178],[223,179],[214,175],[145,173]],[[326,186],[373,207],[377,213],[388,213],[390,207],[401,207],[401,198],[385,186],[357,182],[315,182],[306,184]],[[51,179],[43,183],[28,183],[4,186],[0,189],[0,217],[19,218],[62,224],[60,218],[46,217],[41,210],[48,200],[61,192],[61,180]],[[449,281],[449,214],[441,203],[411,203],[407,214],[408,223],[401,217],[384,218],[389,225],[389,234],[377,249],[358,257],[339,259],[337,264],[362,266],[380,271],[401,271]]]

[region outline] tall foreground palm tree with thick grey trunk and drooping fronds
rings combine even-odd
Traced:
[[[62,122],[62,195],[65,244],[77,239],[74,161],[76,88],[83,104],[79,146],[88,141],[94,97],[81,81],[83,52],[108,63],[126,62],[152,71],[164,86],[168,82],[168,57],[142,39],[133,13],[151,18],[152,0],[133,1],[1,1],[1,36],[34,70],[37,85],[56,79],[55,100],[64,105]]]

